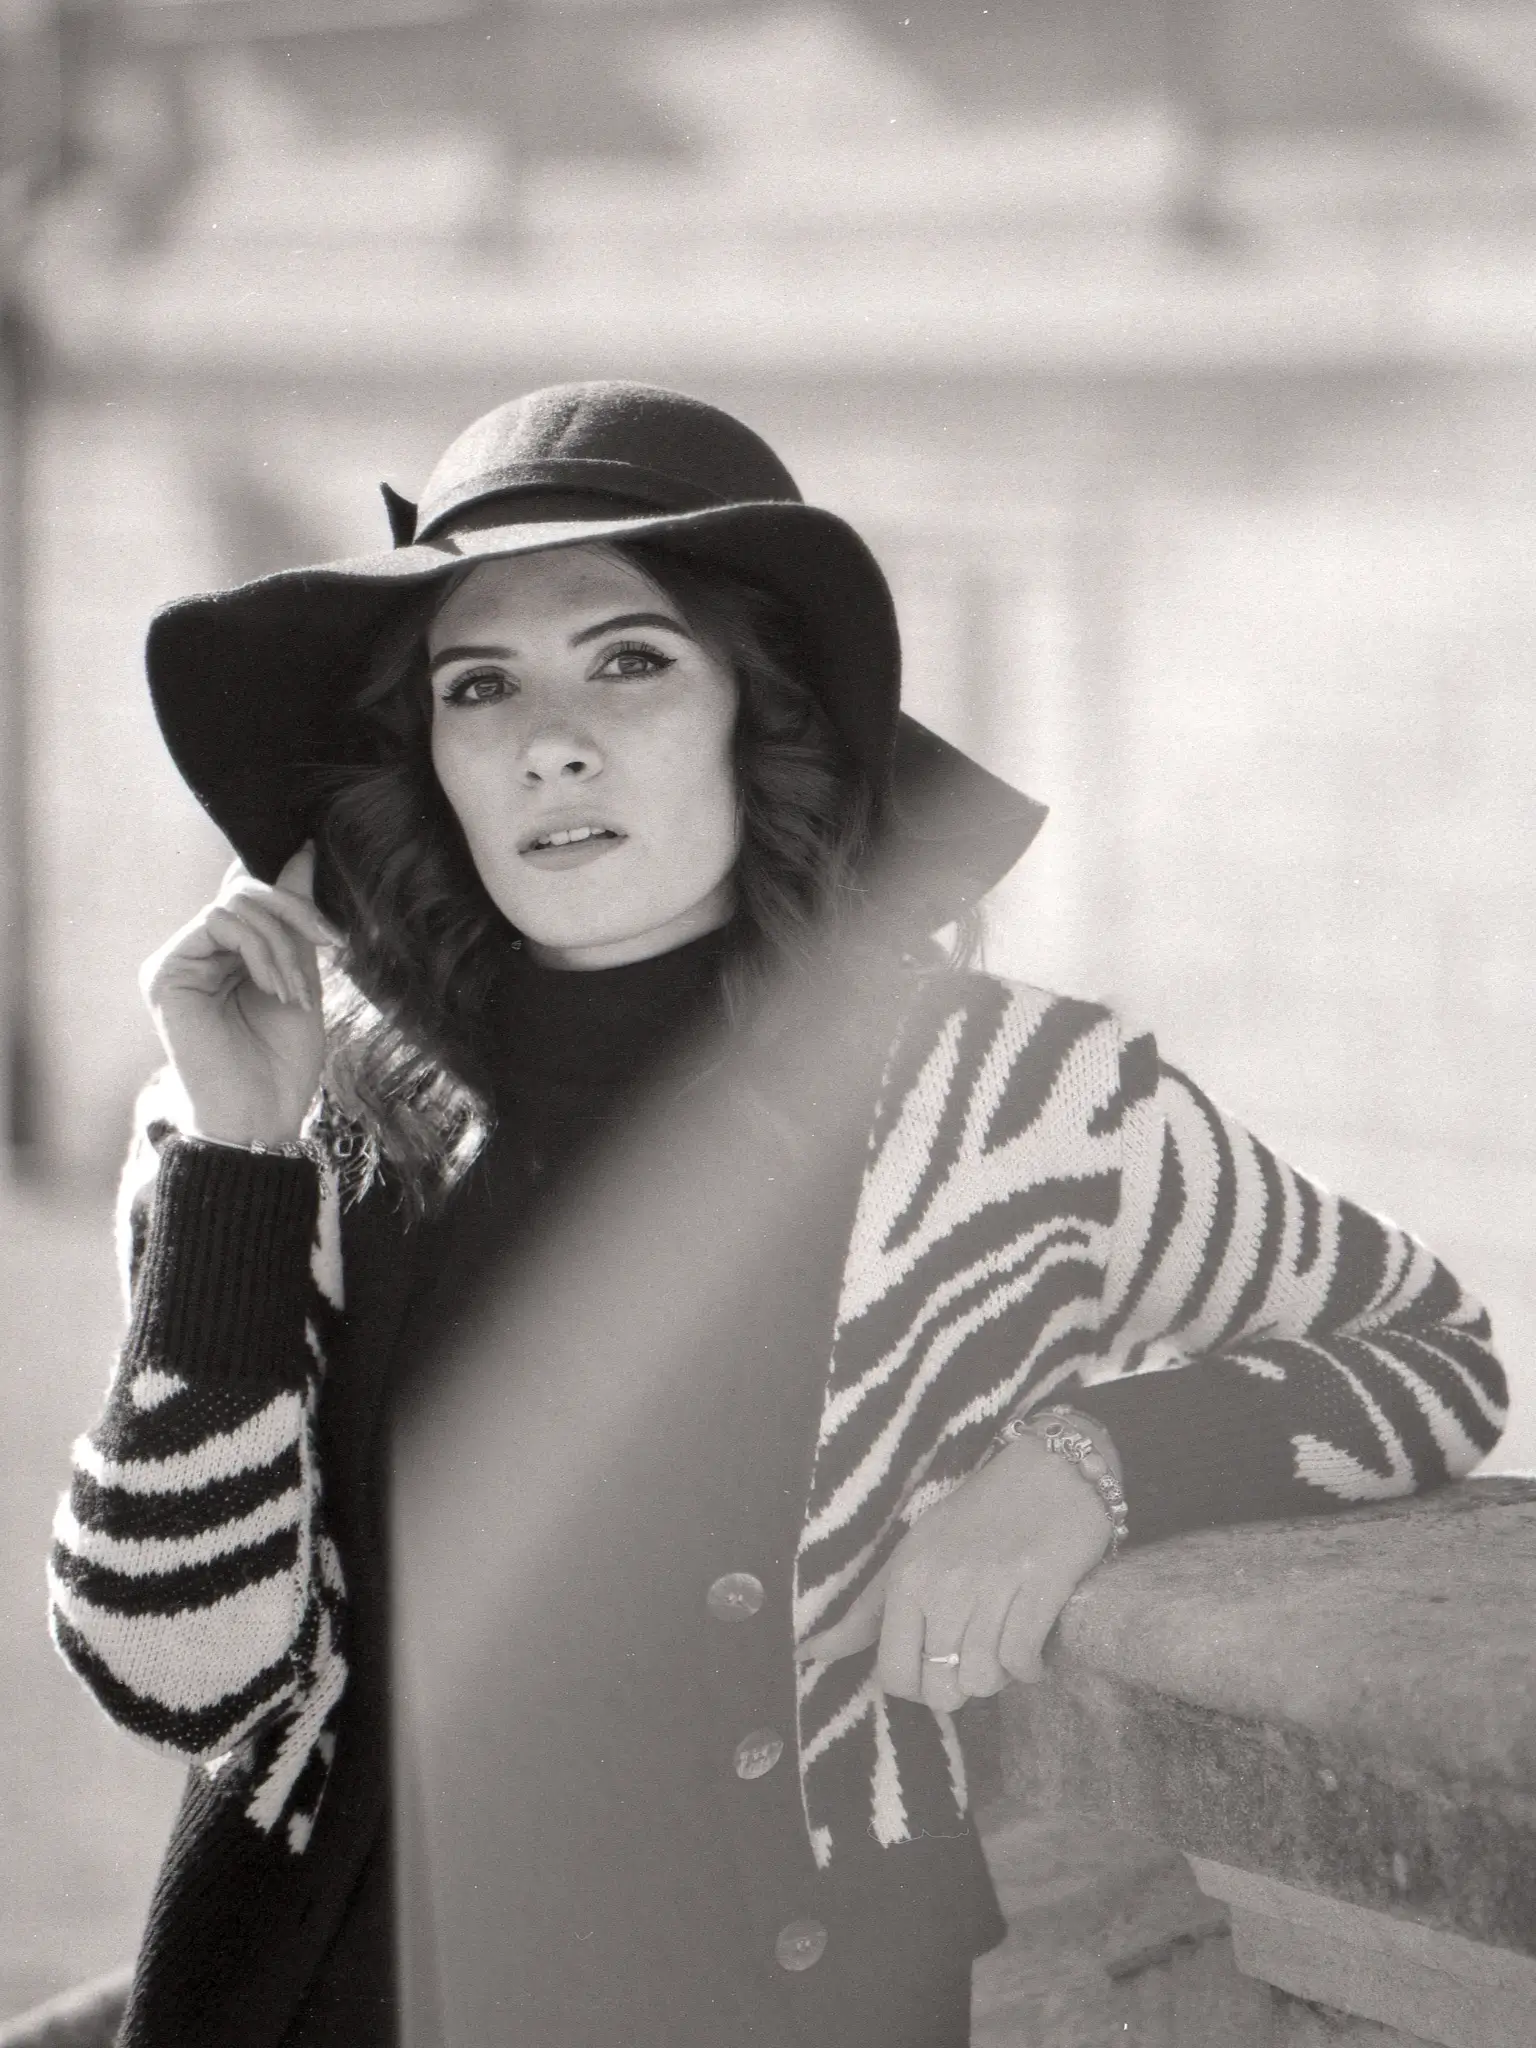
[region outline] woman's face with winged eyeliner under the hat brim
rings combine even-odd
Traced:
[[[725,924],[735,680],[600,547],[483,561],[426,637],[432,766],[502,915],[549,967]]]

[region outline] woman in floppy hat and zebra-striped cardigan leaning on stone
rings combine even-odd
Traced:
[[[1126,1513],[1468,1470],[1487,1321],[1149,1038],[942,963],[1038,813],[899,717],[879,567],[743,426],[559,387],[389,502],[393,555],[150,635],[244,866],[145,971],[133,1315],[53,1550],[61,1651],[195,1765],[123,2040],[393,2034],[403,1409],[406,1749],[449,1638],[496,1698],[424,1767],[494,1882],[422,2038],[961,2044],[1001,1923],[954,1710]],[[465,1346],[516,1473],[432,1438]]]

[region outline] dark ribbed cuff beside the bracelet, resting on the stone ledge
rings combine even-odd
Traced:
[[[1063,1393],[1120,1454],[1126,1542],[1327,1507],[1290,1466],[1290,1427],[1268,1386],[1229,1360],[1196,1360]]]

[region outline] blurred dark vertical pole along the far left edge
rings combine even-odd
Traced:
[[[59,166],[59,49],[55,6],[0,4],[0,1092],[10,1174],[35,1163],[41,1139],[27,801],[27,481],[39,356],[23,254]]]

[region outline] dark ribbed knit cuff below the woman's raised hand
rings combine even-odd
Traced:
[[[125,1356],[205,1382],[301,1378],[317,1204],[309,1159],[168,1139]]]

